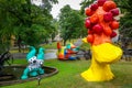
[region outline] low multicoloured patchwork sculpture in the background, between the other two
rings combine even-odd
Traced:
[[[78,59],[76,56],[79,47],[74,44],[67,44],[66,46],[62,46],[59,42],[57,42],[57,57],[58,59]]]

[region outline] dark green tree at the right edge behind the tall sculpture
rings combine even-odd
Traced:
[[[132,37],[132,0],[116,0],[123,16],[120,20],[120,33],[123,36]]]

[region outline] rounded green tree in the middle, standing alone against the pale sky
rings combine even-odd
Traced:
[[[59,14],[61,35],[64,40],[64,45],[67,40],[80,36],[84,28],[84,18],[79,11],[73,10],[68,4],[61,9]]]

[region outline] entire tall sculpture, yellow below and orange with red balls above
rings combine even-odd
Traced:
[[[113,79],[109,64],[116,63],[122,56],[122,50],[112,44],[117,35],[119,22],[114,19],[119,9],[112,0],[97,0],[86,9],[85,25],[88,29],[87,42],[91,45],[91,65],[81,73],[88,81],[105,81]],[[85,41],[85,38],[84,38]]]

